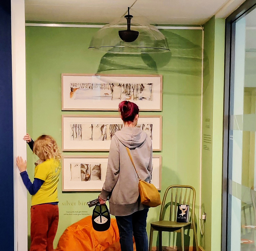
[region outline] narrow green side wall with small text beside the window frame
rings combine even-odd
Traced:
[[[204,25],[202,210],[207,217],[200,245],[206,251],[221,250],[224,46],[225,20],[213,17]]]

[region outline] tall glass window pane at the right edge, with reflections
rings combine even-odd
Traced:
[[[232,29],[227,247],[256,250],[256,9]]]

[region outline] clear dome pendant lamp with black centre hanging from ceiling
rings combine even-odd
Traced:
[[[166,37],[146,18],[130,15],[130,7],[128,15],[106,24],[94,34],[89,49],[122,54],[170,51]]]

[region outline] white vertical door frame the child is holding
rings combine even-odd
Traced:
[[[27,250],[27,189],[16,166],[17,155],[27,158],[25,1],[11,0],[12,106],[14,168],[14,250]]]

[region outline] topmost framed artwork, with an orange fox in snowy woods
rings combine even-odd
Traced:
[[[162,75],[61,74],[63,111],[117,111],[130,100],[141,111],[162,110]]]

